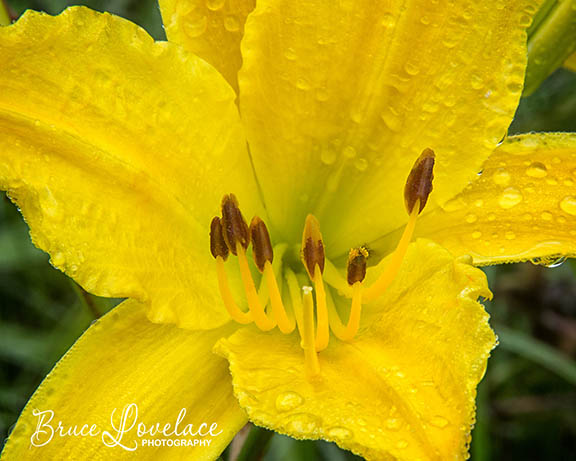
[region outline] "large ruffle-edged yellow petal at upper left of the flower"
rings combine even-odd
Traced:
[[[224,193],[252,210],[257,195],[217,71],[86,8],[1,28],[0,63],[0,189],[52,264],[154,321],[226,322],[210,220]]]

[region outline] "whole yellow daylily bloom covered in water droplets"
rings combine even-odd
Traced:
[[[576,252],[576,137],[501,142],[537,6],[166,0],[167,43],[86,8],[0,30],[0,187],[53,265],[129,298],[4,458],[214,459],[248,419],[369,459],[464,458],[495,344],[472,263]],[[223,433],[31,446],[34,409],[104,428],[132,402]]]

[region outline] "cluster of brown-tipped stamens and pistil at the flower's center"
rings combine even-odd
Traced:
[[[363,247],[350,250],[346,277],[343,277],[326,259],[320,224],[313,215],[306,218],[300,247],[300,259],[307,277],[288,265],[273,265],[275,253],[280,253],[282,262],[287,245],[280,244],[273,248],[264,221],[255,216],[248,226],[236,197],[233,194],[224,196],[222,217],[215,217],[210,225],[210,251],[216,260],[220,293],[230,317],[241,324],[254,323],[262,331],[277,327],[282,333],[291,334],[298,328],[306,370],[310,376],[317,375],[318,352],[328,347],[330,331],[341,341],[352,341],[360,328],[363,303],[378,299],[398,274],[418,215],[432,191],[433,167],[434,152],[425,149],[414,164],[404,189],[410,216],[408,224],[389,263],[370,286],[364,284],[368,250]],[[259,289],[256,289],[247,257],[250,244],[254,264],[261,273]],[[228,283],[225,261],[229,253],[238,259],[248,304],[246,311],[236,304]],[[342,322],[331,292],[326,290],[325,281],[339,294],[350,298],[346,323]],[[283,297],[284,282],[287,289]]]

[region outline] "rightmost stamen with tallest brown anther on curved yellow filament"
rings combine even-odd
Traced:
[[[410,214],[404,233],[392,254],[391,260],[380,275],[378,280],[364,292],[364,301],[370,302],[381,296],[386,288],[398,275],[400,266],[406,251],[414,235],[418,215],[424,209],[430,192],[432,192],[432,180],[434,179],[434,152],[432,149],[424,149],[410,171],[404,188],[404,202]]]

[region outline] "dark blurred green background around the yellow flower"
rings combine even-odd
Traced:
[[[68,5],[88,5],[129,18],[155,38],[164,38],[156,0],[8,3],[16,15],[28,8],[57,14]],[[576,74],[559,69],[522,100],[510,133],[528,131],[576,131]],[[30,242],[16,208],[0,194],[1,449],[35,388],[115,300],[83,292],[52,268],[47,255]],[[471,458],[576,460],[576,263],[559,260],[547,267],[525,263],[485,271],[495,294],[486,307],[500,345],[479,388]],[[248,440],[266,446],[258,459],[357,459],[333,444],[299,442],[264,430],[253,429]],[[232,451],[223,457],[230,458]]]

